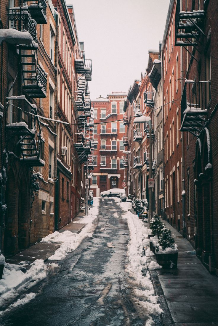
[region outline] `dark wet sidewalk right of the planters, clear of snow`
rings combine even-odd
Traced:
[[[169,223],[163,223],[171,230],[179,250],[177,269],[150,271],[160,302],[170,312],[163,318],[163,325],[218,325],[217,277],[203,266],[188,240]]]

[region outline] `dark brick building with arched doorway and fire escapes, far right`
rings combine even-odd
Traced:
[[[217,1],[177,1],[174,7],[175,49],[182,53],[186,79],[179,124],[185,231],[197,257],[217,274]]]

